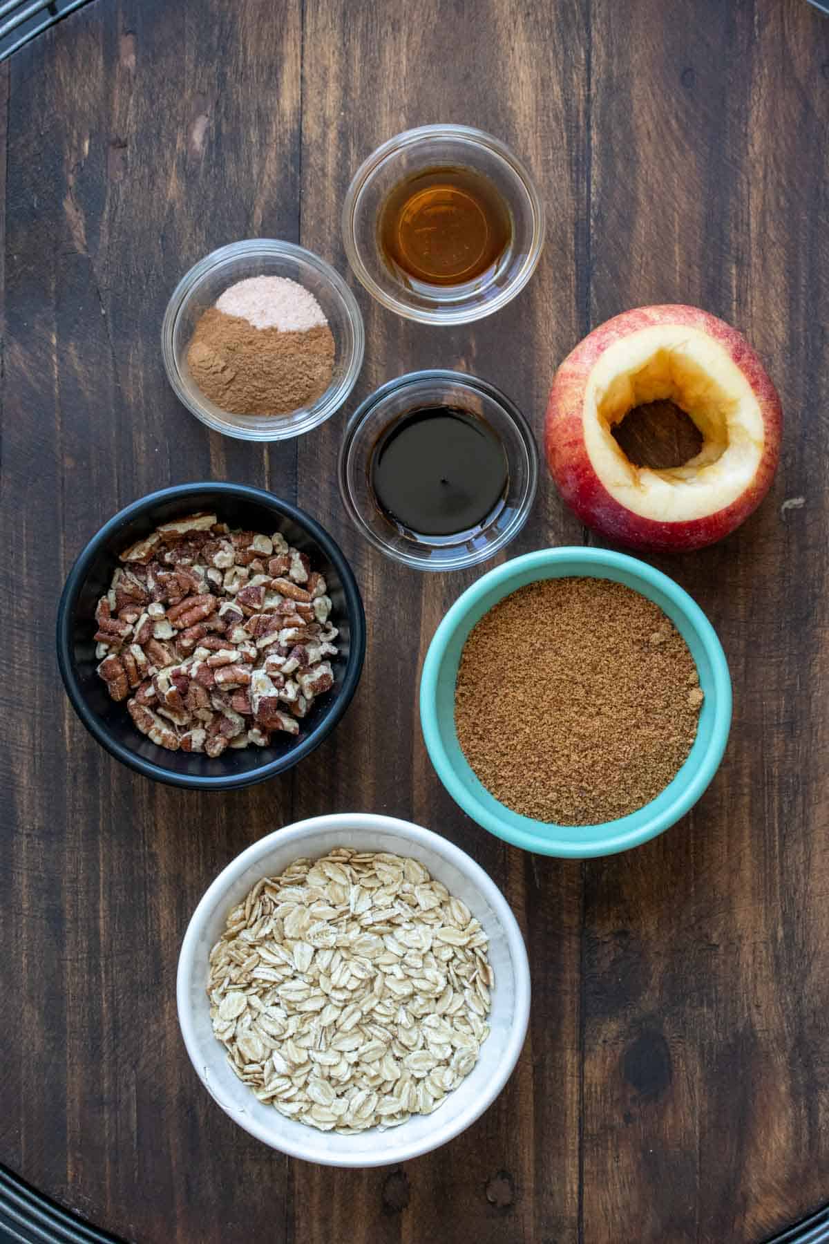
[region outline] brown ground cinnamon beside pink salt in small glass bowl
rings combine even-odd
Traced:
[[[316,402],[334,369],[328,325],[300,332],[256,328],[210,307],[188,346],[188,367],[205,397],[230,414],[288,414]]]

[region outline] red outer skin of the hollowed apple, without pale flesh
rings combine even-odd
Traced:
[[[659,323],[690,325],[725,346],[754,391],[766,427],[763,455],[749,488],[725,509],[682,522],[656,522],[616,501],[597,476],[582,432],[587,379],[599,356],[620,337]],[[777,391],[742,333],[707,311],[677,304],[625,311],[578,343],[558,368],[549,392],[544,450],[558,490],[587,526],[630,549],[686,552],[722,540],[759,505],[777,470],[782,434],[783,412]]]

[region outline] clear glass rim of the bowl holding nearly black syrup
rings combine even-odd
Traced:
[[[457,557],[447,557],[444,561],[435,562],[414,555],[406,555],[398,549],[393,549],[384,540],[382,540],[363,519],[352,499],[348,486],[348,463],[350,450],[360,427],[372,415],[378,406],[385,402],[399,389],[416,388],[418,386],[431,381],[446,381],[454,384],[464,384],[465,387],[476,389],[479,393],[485,393],[488,398],[491,398],[501,408],[506,418],[515,425],[524,450],[527,468],[527,486],[523,491],[521,503],[517,508],[515,518],[510,525],[505,527],[501,535],[483,549],[476,549],[474,552],[465,552]],[[379,549],[387,557],[390,557],[399,565],[408,566],[410,570],[424,570],[431,571],[433,573],[441,573],[452,570],[465,570],[469,566],[476,566],[479,562],[488,561],[490,557],[493,557],[496,552],[500,552],[505,545],[518,535],[529,518],[529,513],[536,500],[536,493],[538,489],[538,447],[526,417],[521,413],[516,403],[508,398],[506,393],[497,388],[497,386],[492,384],[490,381],[481,379],[480,376],[472,376],[469,372],[455,372],[449,368],[434,367],[426,368],[425,371],[405,372],[403,376],[395,376],[380,384],[380,387],[369,393],[368,397],[363,398],[346,424],[337,462],[337,478],[339,480],[339,493],[348,516],[360,535],[363,535],[369,544],[374,545],[375,549]]]

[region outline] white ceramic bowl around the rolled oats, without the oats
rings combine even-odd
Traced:
[[[285,871],[300,856],[317,858],[333,847],[389,851],[419,860],[461,898],[490,937],[495,972],[490,1036],[472,1071],[433,1115],[414,1116],[388,1131],[359,1136],[317,1132],[285,1118],[257,1101],[227,1066],[224,1046],[213,1035],[206,995],[208,955],[227,912],[263,876]],[[337,1167],[373,1167],[405,1162],[452,1140],[483,1113],[515,1067],[529,1018],[529,964],[521,929],[500,889],[464,851],[408,821],[367,812],[341,812],[276,830],[242,851],[219,873],[196,907],[181,944],[178,973],[179,1023],[184,1044],[201,1084],[240,1127],[275,1149],[307,1162]]]

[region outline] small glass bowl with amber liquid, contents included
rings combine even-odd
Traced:
[[[389,311],[469,323],[524,287],[544,244],[544,210],[500,139],[469,126],[420,126],[357,170],[343,240],[354,275]]]

